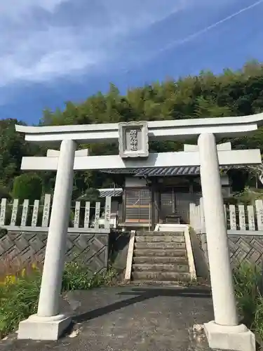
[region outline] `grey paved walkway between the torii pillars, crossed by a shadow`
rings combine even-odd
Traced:
[[[58,342],[0,342],[2,351],[208,351],[192,328],[213,319],[208,291],[108,287],[67,295],[76,324]]]

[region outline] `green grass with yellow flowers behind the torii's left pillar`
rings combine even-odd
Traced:
[[[23,319],[36,313],[41,285],[41,267],[22,268],[20,274],[6,274],[0,284],[0,338],[11,333]],[[66,263],[62,292],[86,290],[110,284],[115,272],[93,274],[81,262]]]

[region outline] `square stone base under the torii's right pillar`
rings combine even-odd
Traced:
[[[214,321],[205,323],[205,334],[211,349],[255,351],[255,335],[244,324],[221,326]]]

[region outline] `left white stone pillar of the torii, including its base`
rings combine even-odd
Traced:
[[[74,140],[62,141],[46,243],[39,306],[35,316],[20,323],[18,338],[56,340],[70,322],[69,318],[59,314],[59,302],[65,263],[70,201],[72,199],[75,150]],[[33,323],[39,324],[39,328],[37,325],[34,327]],[[29,331],[30,328],[31,331]]]

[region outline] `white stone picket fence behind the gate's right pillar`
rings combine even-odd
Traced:
[[[199,205],[190,204],[190,225],[197,233],[205,233],[203,198]],[[256,200],[255,206],[240,204],[224,205],[229,234],[263,234],[263,201]]]

